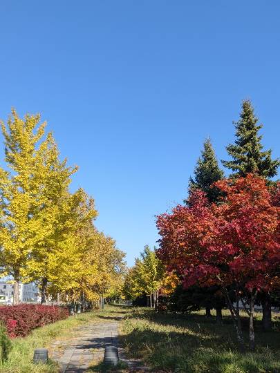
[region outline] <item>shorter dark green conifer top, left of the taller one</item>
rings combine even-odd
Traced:
[[[218,166],[218,161],[210,139],[205,140],[203,150],[194,169],[194,178],[189,179],[189,192],[201,189],[207,194],[211,202],[216,202],[221,192],[212,184],[223,178],[223,171]],[[186,201],[185,201],[186,202]]]

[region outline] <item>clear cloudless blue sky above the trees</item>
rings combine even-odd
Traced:
[[[2,0],[0,117],[41,113],[129,265],[250,98],[279,151],[280,2]]]

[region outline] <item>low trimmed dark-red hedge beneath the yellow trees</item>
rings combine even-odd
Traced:
[[[27,336],[37,327],[67,318],[68,309],[47,305],[15,305],[0,307],[0,321],[11,338]]]

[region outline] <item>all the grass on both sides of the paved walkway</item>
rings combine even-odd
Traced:
[[[41,327],[26,338],[12,340],[9,359],[0,365],[1,373],[56,373],[57,365],[33,365],[35,348],[50,347],[75,335],[75,327],[84,323],[115,320],[124,314],[120,342],[128,356],[140,358],[153,372],[184,373],[280,373],[280,315],[274,315],[273,331],[261,330],[261,315],[256,314],[256,352],[241,354],[228,312],[223,312],[223,325],[204,312],[185,316],[156,314],[150,309],[108,307],[104,312],[88,312],[67,320]],[[248,317],[243,315],[243,329],[248,329]],[[247,332],[246,332],[247,334]],[[246,335],[247,336],[247,335]],[[105,372],[102,364],[88,371]],[[116,370],[113,370],[116,371]],[[119,372],[128,372],[120,364]]]

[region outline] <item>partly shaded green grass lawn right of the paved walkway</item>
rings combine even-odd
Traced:
[[[121,339],[128,355],[141,358],[153,372],[280,372],[279,315],[273,317],[273,332],[264,333],[261,314],[256,314],[256,352],[245,354],[236,347],[229,312],[223,316],[223,325],[218,326],[204,312],[182,316],[135,309],[122,321]],[[242,323],[247,337],[245,314]]]

